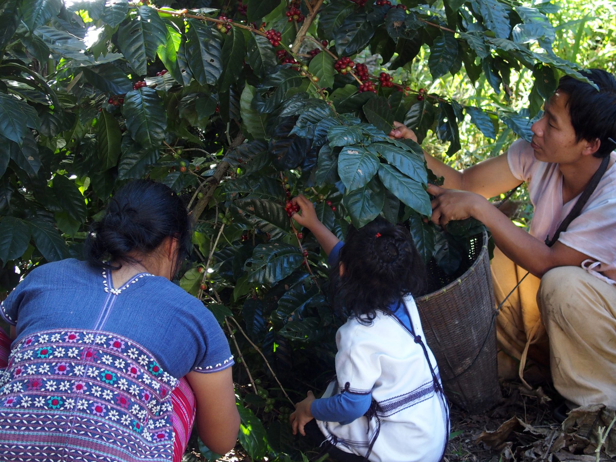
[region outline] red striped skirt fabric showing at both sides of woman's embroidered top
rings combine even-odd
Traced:
[[[0,368],[9,362],[10,338],[0,328]],[[173,404],[173,462],[181,462],[188,445],[190,431],[195,423],[195,394],[185,378],[180,379],[176,389],[171,393]]]

